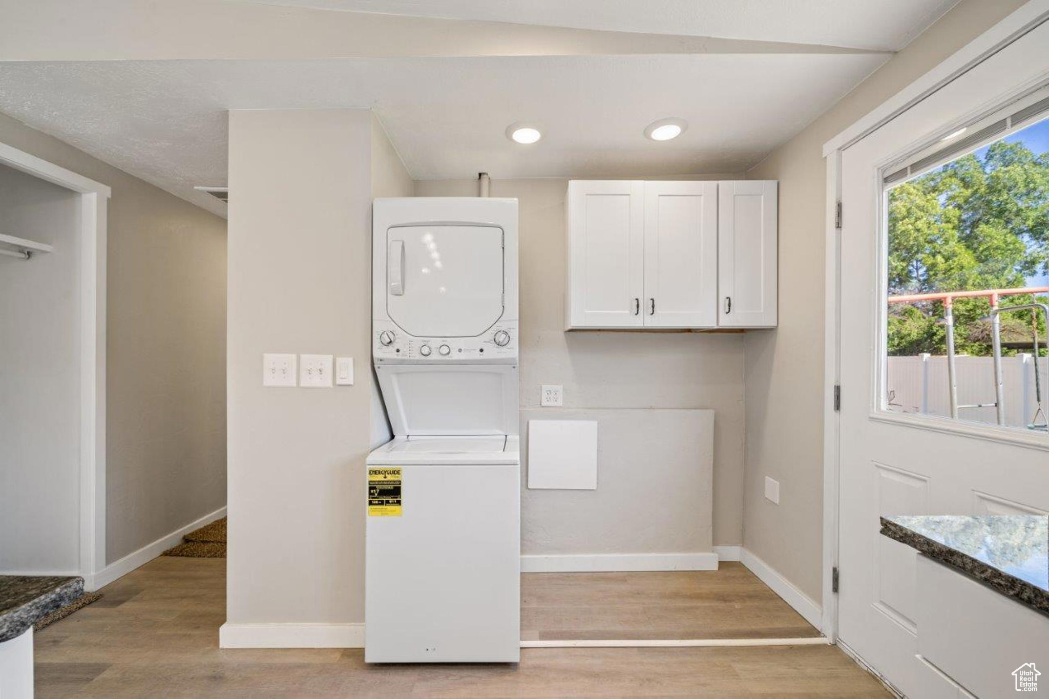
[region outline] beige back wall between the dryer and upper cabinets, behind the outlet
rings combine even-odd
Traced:
[[[568,180],[493,179],[491,196],[520,206],[520,405],[539,386],[564,387],[564,407],[709,408],[714,411],[713,543],[741,543],[743,335],[564,331],[564,192]],[[419,180],[416,196],[475,196],[474,180]],[[687,438],[687,435],[682,435]],[[570,511],[544,512],[571,518]],[[527,516],[527,512],[526,512]],[[526,530],[541,531],[536,523]],[[522,542],[528,553],[556,542]],[[559,552],[559,551],[557,551]],[[581,551],[579,551],[581,552]]]

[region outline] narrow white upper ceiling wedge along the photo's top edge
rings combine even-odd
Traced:
[[[245,0],[354,12],[896,51],[958,0]]]

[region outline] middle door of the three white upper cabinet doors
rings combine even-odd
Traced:
[[[645,326],[718,324],[718,182],[645,182]]]

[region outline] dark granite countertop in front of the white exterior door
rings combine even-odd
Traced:
[[[901,515],[881,533],[1049,614],[1049,517]]]

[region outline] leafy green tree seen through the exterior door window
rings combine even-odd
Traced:
[[[889,293],[1020,287],[1049,274],[1049,153],[998,141],[889,193]],[[1014,296],[1002,305],[1030,303]],[[1044,300],[1043,300],[1044,301]],[[957,299],[959,353],[990,353],[987,299]],[[942,354],[943,304],[891,304],[889,353]],[[1045,321],[1035,321],[1045,336]],[[1004,313],[1003,337],[1030,337],[1030,311]],[[1043,352],[1044,353],[1044,352]]]

